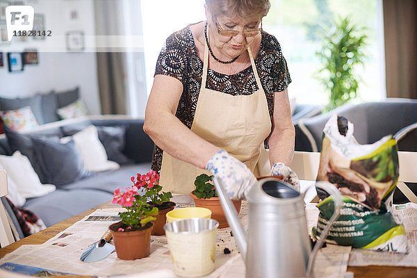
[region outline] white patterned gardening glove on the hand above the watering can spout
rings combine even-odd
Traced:
[[[256,183],[254,174],[246,165],[224,149],[210,158],[206,169],[220,179],[230,199],[245,199],[250,188]]]

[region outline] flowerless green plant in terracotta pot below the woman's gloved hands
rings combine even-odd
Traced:
[[[200,174],[195,178],[195,190],[190,193],[193,197],[195,206],[208,208],[211,210],[211,218],[218,220],[219,228],[228,227],[226,215],[224,215],[222,204],[215,191],[213,184],[213,176],[207,174]],[[236,208],[236,211],[240,213],[240,206],[242,200],[231,200]]]

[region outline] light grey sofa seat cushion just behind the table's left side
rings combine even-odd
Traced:
[[[24,208],[35,212],[47,227],[111,201],[113,194],[100,190],[60,190],[42,197],[28,199]]]

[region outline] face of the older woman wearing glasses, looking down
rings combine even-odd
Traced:
[[[245,31],[256,31],[261,19],[242,17],[211,17],[210,47],[215,47],[225,58],[233,59],[247,49],[256,36],[245,36]],[[239,31],[237,35],[220,35],[218,28],[224,31]],[[218,57],[220,58],[220,57]],[[222,58],[220,58],[222,59]],[[224,58],[223,58],[224,59]]]

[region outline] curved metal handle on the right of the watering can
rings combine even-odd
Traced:
[[[307,190],[310,190],[311,188],[313,188],[313,186],[311,186]],[[333,200],[334,200],[334,211],[333,211],[333,215],[330,218],[329,222],[327,223],[325,229],[323,229],[323,231],[320,235],[320,239],[318,240],[316,245],[314,245],[314,248],[311,251],[311,254],[310,254],[310,257],[309,257],[309,263],[307,265],[307,271],[306,271],[306,277],[308,277],[308,278],[313,278],[314,277],[313,268],[314,268],[314,262],[316,261],[316,256],[317,256],[318,250],[320,250],[323,243],[325,243],[325,239],[327,237],[327,234],[329,233],[330,227],[332,227],[333,222],[340,215],[341,208],[343,206],[342,195],[341,195],[340,191],[336,188],[336,186],[334,186],[332,183],[329,183],[327,181],[318,181],[318,182],[316,182],[316,188],[320,188],[322,190],[325,190],[327,193],[332,195]]]

